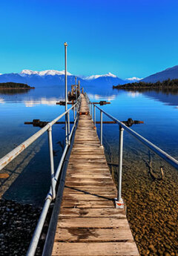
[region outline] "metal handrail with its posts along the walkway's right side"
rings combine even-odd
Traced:
[[[105,114],[110,119],[112,119],[114,122],[116,122],[119,125],[119,171],[118,171],[118,195],[117,195],[117,201],[122,204],[122,153],[123,153],[123,132],[124,130],[127,131],[129,134],[131,134],[133,137],[135,137],[139,142],[142,142],[147,148],[149,148],[151,151],[153,151],[155,154],[157,154],[159,157],[161,157],[163,160],[165,160],[167,163],[172,165],[174,168],[178,170],[178,161],[171,157],[169,154],[167,154],[165,151],[163,151],[161,148],[154,145],[149,140],[145,139],[145,137],[142,137],[140,134],[136,133],[136,131],[133,131],[131,128],[128,128],[127,125],[125,125],[123,122],[119,121],[115,117],[111,116],[111,114],[108,114],[102,108],[99,108],[93,102],[90,102],[90,99],[88,98],[88,95],[85,93],[85,99],[88,102],[88,108],[90,114],[92,114],[92,119],[94,126],[96,126],[96,108],[100,111],[100,145],[102,146],[102,114]],[[93,106],[93,110],[92,110]]]

